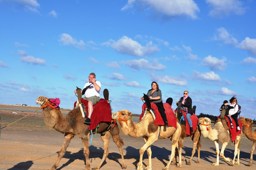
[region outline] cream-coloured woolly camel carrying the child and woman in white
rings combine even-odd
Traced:
[[[225,150],[228,142],[231,140],[230,131],[226,130],[221,122],[216,123],[212,128],[211,120],[209,118],[199,118],[198,124],[199,124],[199,128],[201,130],[201,134],[204,137],[214,141],[214,144],[216,147],[217,159],[216,159],[215,163],[212,163],[212,165],[215,165],[215,166],[219,165],[219,154],[220,154],[220,157],[223,157],[223,159],[226,162],[230,162],[230,159],[226,158],[224,156],[224,150]],[[240,140],[241,140],[242,136],[243,136],[243,134],[241,132],[239,135],[236,136],[236,140],[234,141],[235,152],[234,152],[234,159],[233,159],[232,163],[230,164],[231,166],[234,166],[235,164],[240,165],[239,145],[240,145]],[[219,141],[222,142],[221,151],[219,150]],[[237,155],[237,162],[235,163],[236,155]]]

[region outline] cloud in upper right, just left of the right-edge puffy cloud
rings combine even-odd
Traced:
[[[230,35],[225,28],[220,27],[220,28],[217,28],[216,31],[217,31],[217,34],[214,35],[213,40],[222,41],[225,44],[237,44],[237,39],[235,39],[232,35]]]

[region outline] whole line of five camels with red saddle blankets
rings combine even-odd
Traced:
[[[153,88],[152,88],[153,89]],[[209,118],[197,118],[195,115],[196,107],[193,106],[192,114],[188,115],[189,108],[186,105],[186,100],[189,99],[185,97],[188,92],[184,91],[184,98],[177,101],[176,110],[172,109],[173,99],[168,98],[166,103],[163,103],[163,108],[166,118],[161,115],[159,105],[152,102],[154,97],[144,94],[141,98],[145,101],[142,105],[142,113],[140,114],[139,122],[134,122],[132,120],[133,114],[126,109],[122,111],[112,112],[111,103],[108,99],[108,90],[105,89],[104,99],[100,99],[93,108],[93,112],[90,118],[90,123],[88,124],[88,103],[87,100],[81,98],[81,93],[79,88],[78,100],[74,104],[74,109],[70,111],[66,116],[60,111],[60,100],[48,99],[44,96],[37,98],[37,104],[41,105],[42,113],[44,115],[45,125],[52,129],[54,128],[58,132],[64,133],[64,141],[61,150],[59,151],[58,158],[55,164],[52,166],[51,170],[56,170],[61,158],[64,156],[67,147],[69,146],[71,139],[74,136],[78,136],[82,139],[83,144],[83,154],[85,156],[85,170],[90,170],[89,161],[89,135],[100,134],[102,141],[104,143],[104,154],[100,163],[92,168],[92,170],[100,169],[102,163],[109,154],[108,145],[110,136],[114,143],[119,148],[122,162],[121,169],[126,169],[124,155],[123,155],[123,145],[124,141],[120,137],[120,130],[118,124],[120,125],[121,131],[124,135],[129,135],[134,138],[143,137],[145,144],[139,149],[139,161],[137,164],[137,170],[151,170],[152,169],[152,150],[151,144],[153,144],[158,139],[171,139],[171,155],[168,164],[163,168],[163,170],[168,170],[170,165],[176,165],[176,167],[182,167],[182,161],[185,160],[184,156],[181,155],[183,141],[186,137],[191,137],[193,141],[193,150],[191,153],[190,160],[186,163],[191,165],[191,160],[196,152],[198,152],[198,159],[195,163],[200,163],[200,148],[201,148],[201,134],[212,141],[216,146],[216,162],[212,165],[219,165],[219,156],[222,157],[226,162],[230,162],[229,158],[224,156],[224,150],[228,142],[231,141],[234,146],[234,158],[230,165],[239,165],[239,154],[240,154],[240,140],[243,133],[246,137],[253,141],[253,147],[250,151],[251,157],[249,166],[252,166],[253,152],[256,147],[256,135],[255,131],[252,131],[253,121],[248,118],[240,117],[238,121],[238,126],[242,130],[237,130],[237,126],[234,123],[233,128],[229,122],[229,118],[225,115],[227,112],[225,108],[222,110],[221,115],[215,121],[212,127],[212,121]],[[82,90],[81,90],[82,92]],[[161,92],[160,92],[161,93]],[[187,93],[187,94],[186,94]],[[152,93],[151,93],[152,94]],[[225,102],[225,101],[224,101]],[[236,106],[235,106],[236,107]],[[235,108],[234,107],[234,108]],[[189,117],[189,118],[188,118]],[[189,123],[189,119],[192,124]],[[231,117],[231,121],[235,120]],[[242,133],[243,132],[243,133]],[[221,151],[219,151],[219,142],[222,142]],[[148,164],[143,168],[143,154],[147,150]],[[153,150],[154,153],[154,150]],[[177,156],[179,159],[177,159]],[[235,158],[237,156],[237,162],[235,163]],[[178,161],[177,161],[178,160]],[[117,168],[115,168],[117,169]]]

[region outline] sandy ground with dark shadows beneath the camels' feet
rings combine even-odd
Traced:
[[[12,113],[12,112],[16,112]],[[19,111],[6,111],[0,110],[0,124],[2,128],[21,117],[29,114],[29,112]],[[119,126],[120,127],[120,126]],[[143,138],[133,138],[125,136],[122,133],[120,136],[123,138],[124,158],[127,165],[127,170],[135,170],[139,160],[139,149],[143,146]],[[58,151],[61,149],[64,134],[48,129],[43,121],[43,115],[34,113],[6,128],[1,130],[0,137],[0,169],[1,170],[41,170],[51,169],[58,156]],[[91,136],[90,136],[91,137]],[[118,147],[110,139],[109,155],[102,164],[102,170],[121,169],[121,155]],[[250,159],[250,149],[252,141],[248,140],[245,136],[241,140],[240,145],[240,165],[229,166],[229,162],[225,162],[220,158],[219,166],[212,166],[211,164],[216,161],[215,145],[214,142],[201,136],[202,148],[200,155],[200,164],[196,164],[197,152],[192,159],[192,165],[186,165],[192,151],[191,138],[186,138],[182,155],[185,156],[186,161],[182,162],[182,168],[185,170],[225,170],[225,169],[241,169],[252,170],[256,168],[255,155],[253,166],[247,166]],[[220,143],[221,147],[221,143]],[[170,139],[157,140],[152,148],[152,169],[164,168],[171,154],[171,141]],[[103,155],[103,142],[100,135],[93,135],[92,144],[89,144],[90,150],[90,165],[91,168],[98,165]],[[234,146],[231,142],[228,144],[224,154],[226,157],[233,159]],[[148,156],[144,153],[143,168],[147,166]],[[65,156],[61,159],[58,170],[73,170],[84,169],[85,157],[83,155],[83,148],[81,139],[74,137],[70,146],[67,149]],[[176,169],[175,166],[170,165],[169,169]]]

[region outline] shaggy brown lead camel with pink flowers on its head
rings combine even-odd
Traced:
[[[43,109],[42,113],[44,115],[44,123],[49,128],[54,128],[55,130],[65,133],[64,141],[61,150],[59,151],[59,155],[57,161],[52,166],[51,170],[56,170],[61,158],[64,156],[67,147],[70,144],[71,139],[74,138],[75,135],[82,139],[83,148],[84,148],[84,156],[85,156],[85,170],[90,170],[90,162],[89,162],[89,143],[88,138],[91,132],[89,131],[89,126],[84,124],[85,118],[82,117],[82,113],[80,108],[73,109],[68,113],[68,115],[63,115],[60,112],[60,108],[54,108],[49,103],[47,98],[41,96],[37,98],[37,103],[41,105]],[[115,126],[114,128],[110,127],[109,129],[108,122],[101,122],[99,124],[99,128],[97,129],[97,133],[101,134],[101,139],[104,143],[104,154],[101,159],[101,162],[96,167],[92,168],[92,170],[98,170],[106,157],[109,154],[108,144],[110,136],[112,135],[113,141],[116,143],[117,147],[122,156],[122,169],[126,169],[126,164],[124,162],[123,156],[123,140],[119,136],[119,128]],[[95,134],[95,129],[93,129],[93,134]]]

